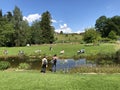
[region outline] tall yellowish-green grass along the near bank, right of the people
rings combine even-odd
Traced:
[[[120,73],[120,65],[81,66],[71,69],[70,73]]]

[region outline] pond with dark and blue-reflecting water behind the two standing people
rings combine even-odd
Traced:
[[[12,68],[16,68],[19,66],[20,63],[24,63],[24,61],[20,60],[9,60],[11,63]],[[30,64],[31,69],[33,70],[40,70],[41,69],[41,61],[40,60],[32,60],[27,61],[26,63]],[[74,67],[80,67],[80,66],[96,66],[96,63],[94,60],[86,60],[85,58],[74,60],[74,59],[58,59],[56,64],[56,70],[64,70],[64,69],[71,69]],[[48,62],[48,70],[51,69],[51,62]]]

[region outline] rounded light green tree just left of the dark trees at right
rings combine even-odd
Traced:
[[[97,43],[100,39],[100,35],[95,31],[94,28],[89,28],[85,31],[83,40],[86,43]]]

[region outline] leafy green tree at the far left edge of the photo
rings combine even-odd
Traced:
[[[0,46],[11,46],[9,43],[13,33],[13,24],[6,17],[0,17]]]

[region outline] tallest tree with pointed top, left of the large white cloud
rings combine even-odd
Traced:
[[[27,43],[28,39],[28,22],[23,21],[22,12],[20,9],[15,6],[13,10],[13,23],[14,23],[14,44],[15,46],[24,46]]]

